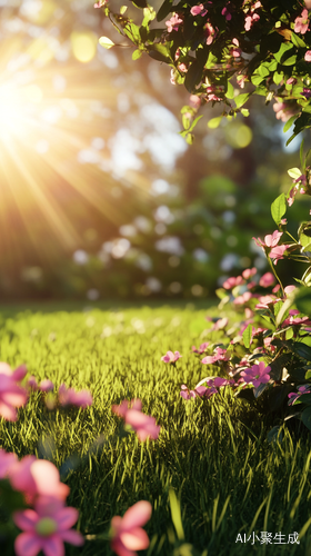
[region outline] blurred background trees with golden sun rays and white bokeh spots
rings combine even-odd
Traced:
[[[210,296],[264,264],[251,238],[274,229],[267,206],[298,153],[263,100],[252,119],[200,122],[188,147],[183,88],[98,46],[111,24],[89,0],[7,0],[0,16],[2,301]]]

